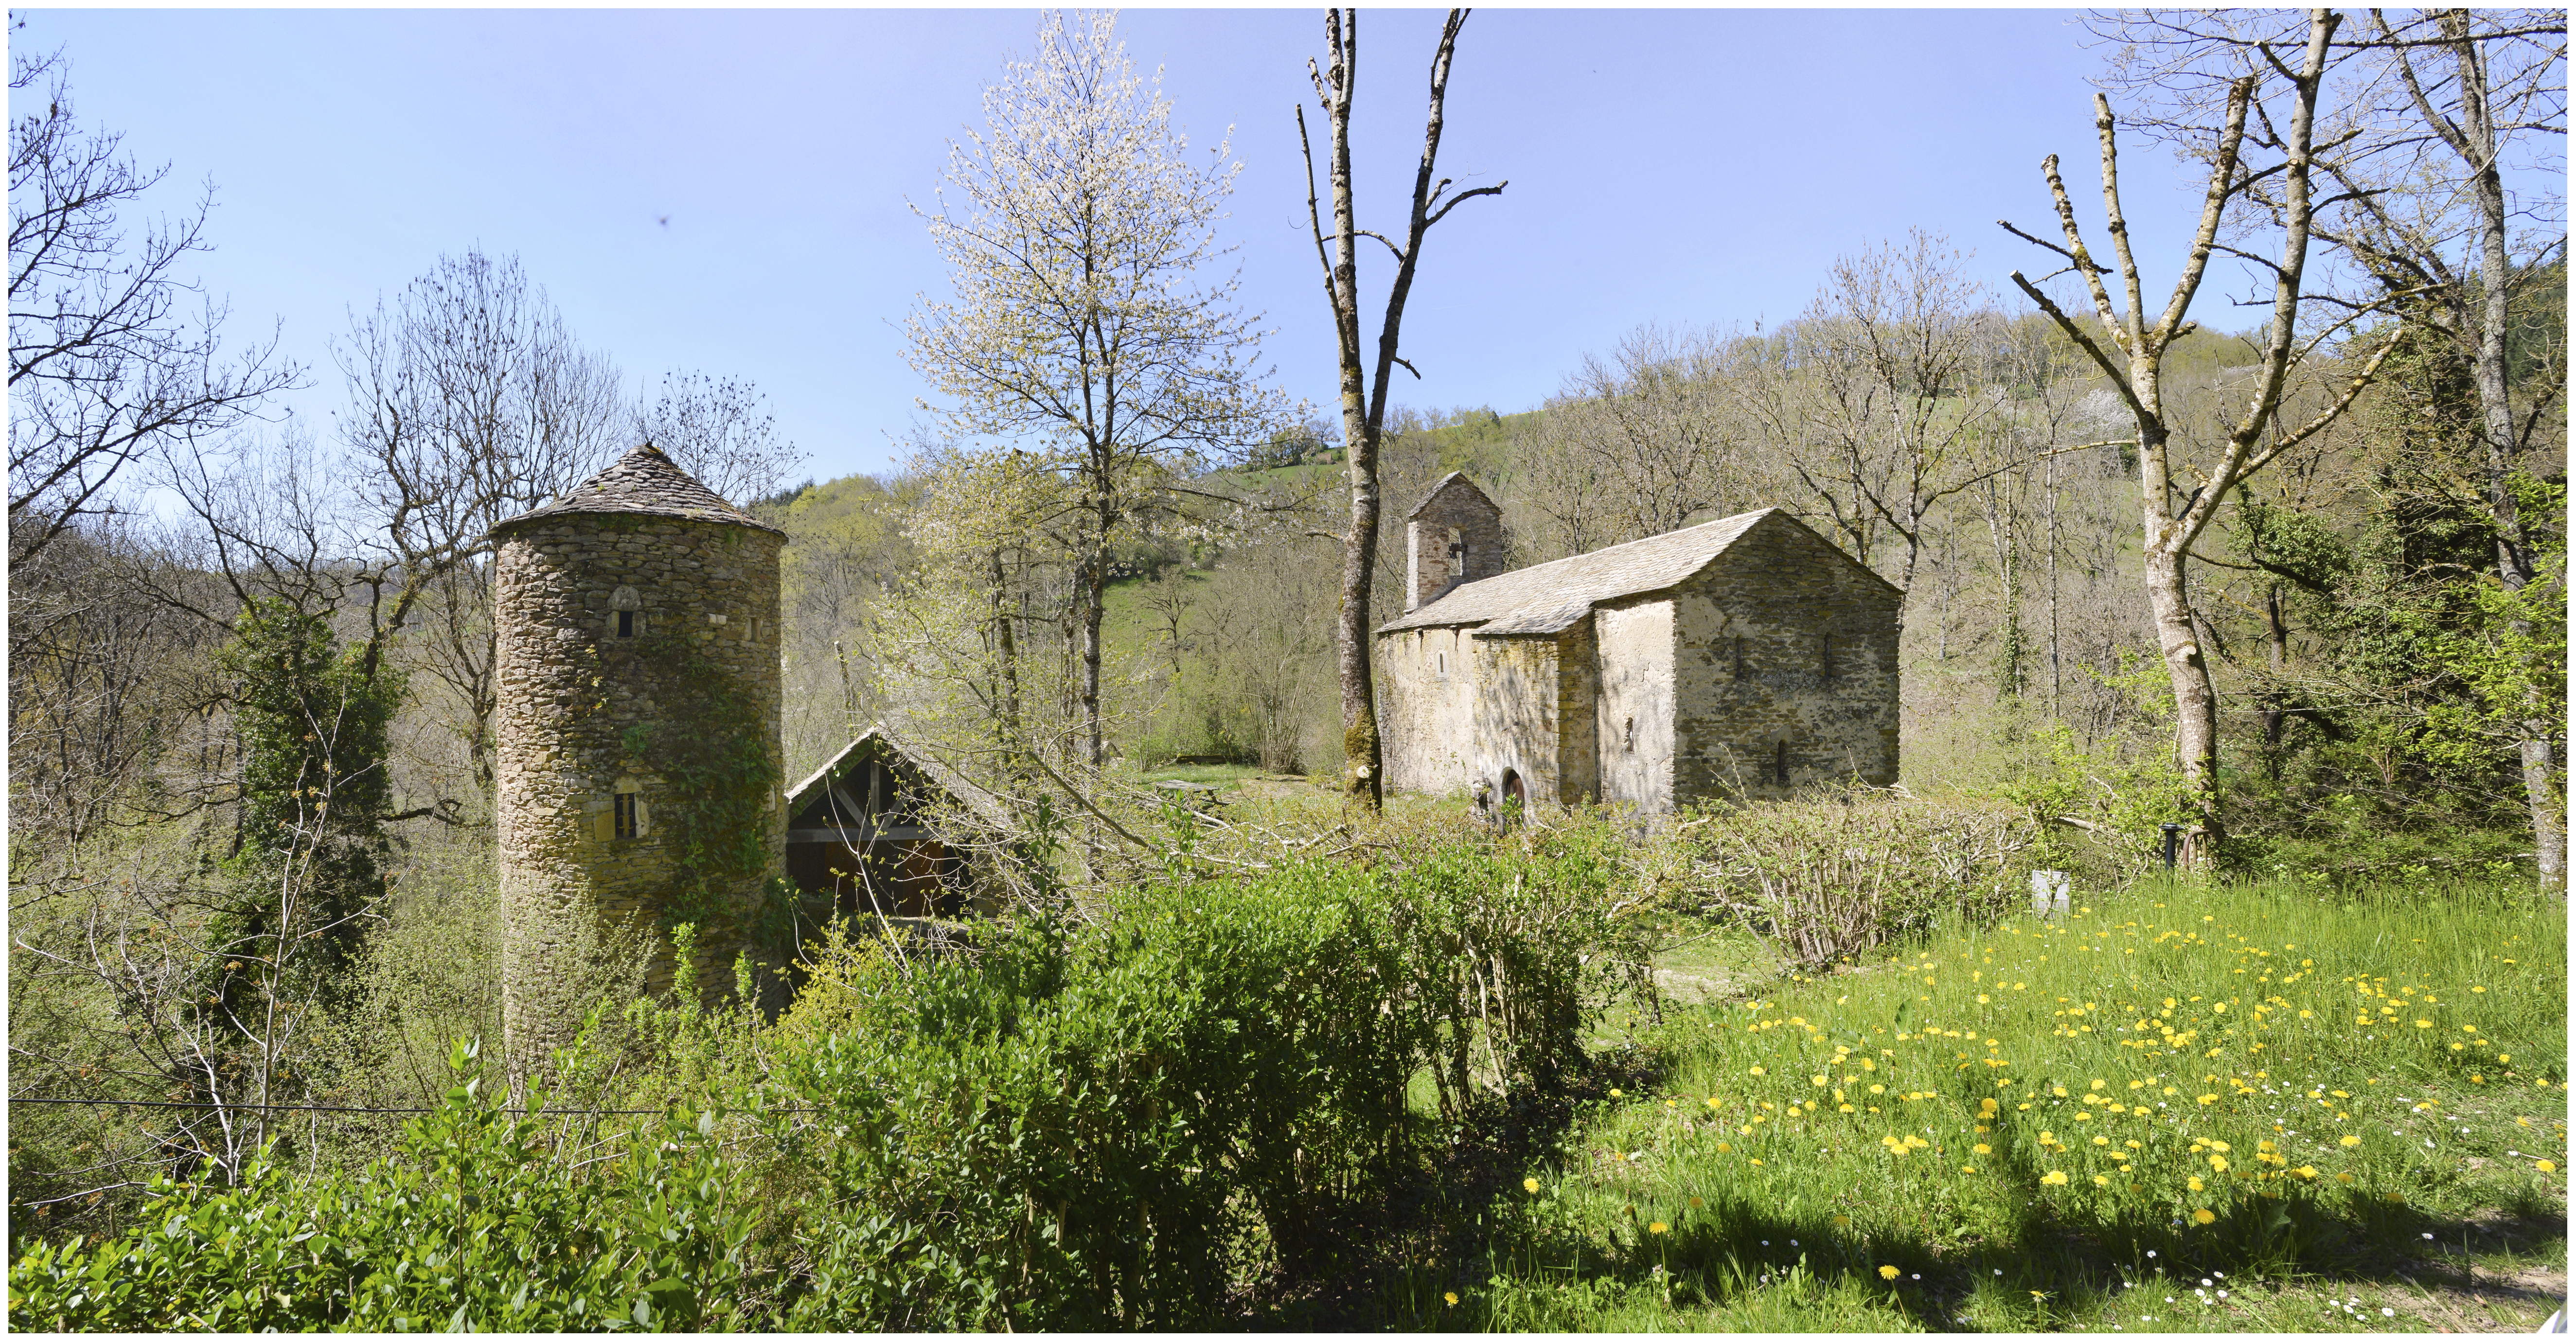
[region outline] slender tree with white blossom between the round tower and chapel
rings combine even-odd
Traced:
[[[1206,167],[1188,160],[1115,15],[1072,31],[1048,15],[1038,57],[984,90],[984,124],[948,152],[961,201],[943,188],[938,214],[922,211],[956,299],[912,314],[909,358],[948,399],[951,433],[1046,443],[1079,500],[1077,695],[1097,770],[1110,546],[1172,507],[1211,453],[1275,430],[1285,404],[1252,368],[1239,278],[1200,278],[1226,255],[1216,222],[1242,165],[1226,144]]]

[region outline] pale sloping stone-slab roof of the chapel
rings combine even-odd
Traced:
[[[1461,582],[1440,600],[1386,621],[1378,634],[1458,623],[1484,626],[1476,631],[1479,636],[1561,634],[1589,616],[1597,600],[1659,592],[1705,569],[1710,559],[1772,513],[1780,510],[1736,513],[1643,541]]]

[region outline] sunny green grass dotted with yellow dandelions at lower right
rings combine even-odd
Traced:
[[[2566,1290],[2563,1002],[2566,907],[2512,894],[2151,889],[1942,935],[1641,1025],[1664,1082],[1383,1309],[2527,1332]]]

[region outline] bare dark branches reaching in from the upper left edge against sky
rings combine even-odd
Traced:
[[[75,121],[59,54],[13,54],[10,93],[36,82],[44,111],[8,131],[10,569],[100,513],[134,458],[222,435],[304,376],[276,337],[224,361],[224,307],[180,273],[209,247],[214,185],[131,240],[121,216],[170,167],[139,167],[118,134]]]

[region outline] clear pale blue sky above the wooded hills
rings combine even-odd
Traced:
[[[902,317],[945,276],[907,201],[933,198],[948,139],[1038,28],[1036,10],[13,13],[21,49],[72,59],[85,121],[178,188],[214,180],[198,276],[232,335],[283,322],[317,430],[348,309],[482,245],[518,252],[629,384],[755,379],[824,479],[886,469],[917,417]],[[1363,10],[1363,224],[1401,227],[1437,21]],[[1234,129],[1244,304],[1278,327],[1280,384],[1327,407],[1291,118],[1321,10],[1126,10],[1121,36],[1164,70],[1193,144]],[[1432,232],[1404,325],[1422,381],[1396,399],[1533,407],[1641,322],[1795,317],[1837,255],[1909,227],[2009,288],[2048,258],[1994,219],[2048,222],[2043,155],[2099,201],[2084,41],[2071,10],[1479,10],[1440,162],[1510,191]],[[2169,283],[2192,185],[2161,149],[2125,162],[2141,258]],[[1363,276],[1370,332],[1383,276]]]

